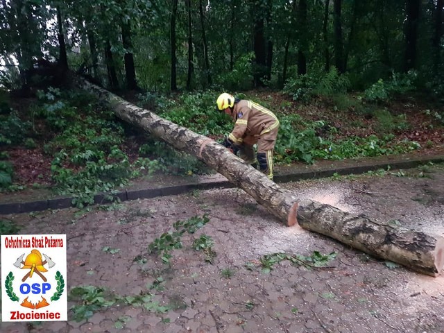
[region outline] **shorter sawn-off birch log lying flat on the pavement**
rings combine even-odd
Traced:
[[[372,221],[336,207],[304,200],[299,203],[298,223],[365,253],[438,276],[444,266],[444,239],[424,232]]]

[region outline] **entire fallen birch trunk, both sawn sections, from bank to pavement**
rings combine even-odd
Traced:
[[[78,80],[77,84],[98,94],[113,108],[117,117],[205,162],[246,191],[285,225],[292,226],[299,221],[302,228],[325,234],[375,257],[427,275],[441,273],[444,265],[444,239],[441,237],[382,225],[312,200],[298,204],[293,193],[269,180],[214,140],[162,119],[86,80]]]

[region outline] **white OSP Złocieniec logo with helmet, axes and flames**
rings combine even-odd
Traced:
[[[2,321],[66,321],[66,263],[65,234],[1,235]]]

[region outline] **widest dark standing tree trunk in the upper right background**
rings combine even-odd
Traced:
[[[407,73],[410,69],[416,68],[420,0],[407,0],[406,12],[404,71]]]

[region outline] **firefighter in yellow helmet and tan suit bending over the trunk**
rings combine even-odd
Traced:
[[[270,110],[244,99],[235,99],[224,92],[217,101],[217,109],[234,120],[234,128],[225,137],[223,146],[239,148],[239,157],[273,180],[273,149],[278,137],[279,121]],[[253,145],[257,144],[257,154]]]

